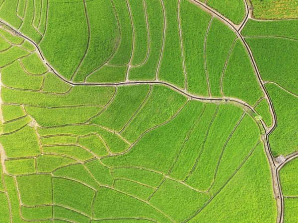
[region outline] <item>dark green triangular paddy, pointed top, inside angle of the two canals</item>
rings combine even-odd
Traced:
[[[263,96],[251,61],[240,40],[237,40],[224,72],[223,92],[225,96],[239,98],[255,105]]]

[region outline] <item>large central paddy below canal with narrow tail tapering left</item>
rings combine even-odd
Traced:
[[[128,153],[102,162],[110,167],[145,167],[166,174],[202,109],[202,103],[190,101],[170,122],[145,134]]]

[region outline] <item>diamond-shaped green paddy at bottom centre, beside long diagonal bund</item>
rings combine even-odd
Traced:
[[[208,200],[208,194],[199,193],[174,180],[166,179],[149,203],[175,222],[183,222],[192,216]]]

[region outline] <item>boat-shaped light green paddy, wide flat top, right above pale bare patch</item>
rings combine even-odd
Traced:
[[[25,106],[26,112],[30,114],[40,126],[45,127],[84,123],[89,118],[102,111],[102,109],[102,107],[97,106],[54,109]]]

